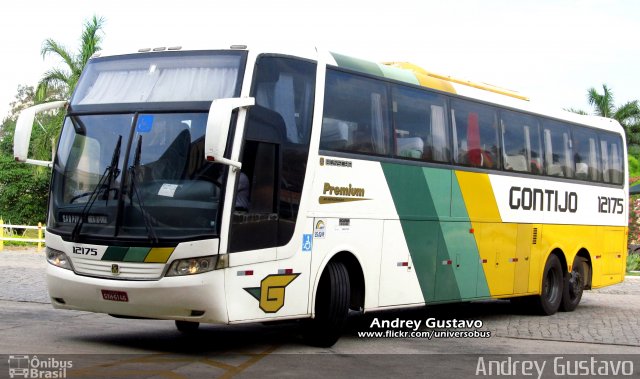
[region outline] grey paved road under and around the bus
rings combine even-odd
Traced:
[[[627,355],[640,353],[640,277],[586,292],[575,312],[551,317],[528,315],[508,301],[368,314],[350,319],[343,338],[320,349],[305,346],[290,324],[207,325],[196,336],[182,336],[170,321],[54,310],[48,304],[45,267],[43,253],[0,252],[0,354],[5,354],[0,378],[7,372],[4,358],[15,354],[73,359],[77,377],[387,377],[424,375],[425,370],[443,374],[439,377],[466,377],[475,376],[479,354],[537,354],[527,357],[542,360],[550,359],[548,354],[597,354],[634,360],[635,374],[640,372],[640,356]],[[429,317],[481,320],[478,330],[491,337],[358,337],[373,330],[375,319]]]

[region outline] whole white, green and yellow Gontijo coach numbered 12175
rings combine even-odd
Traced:
[[[38,112],[66,107],[53,162]],[[51,165],[54,307],[235,324],[522,298],[551,315],[623,280],[613,120],[309,50],[96,55],[68,103],[18,122]]]

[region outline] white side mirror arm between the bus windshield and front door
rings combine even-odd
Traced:
[[[207,132],[204,139],[204,158],[209,162],[221,163],[239,170],[242,163],[224,157],[224,150],[229,138],[231,114],[236,108],[248,108],[255,105],[253,97],[235,97],[216,99],[211,103]]]

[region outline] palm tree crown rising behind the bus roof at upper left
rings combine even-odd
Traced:
[[[85,22],[80,38],[80,47],[76,54],[51,38],[44,41],[41,50],[42,57],[45,58],[49,54],[57,55],[64,61],[66,67],[53,68],[45,73],[38,83],[36,102],[60,97],[68,99],[71,96],[87,61],[96,51],[100,50],[102,36],[99,32],[102,30],[104,22],[104,18],[95,15],[91,20]]]

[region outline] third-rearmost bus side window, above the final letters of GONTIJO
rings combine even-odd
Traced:
[[[547,175],[572,178],[573,163],[569,127],[560,122],[545,121],[542,136]]]

